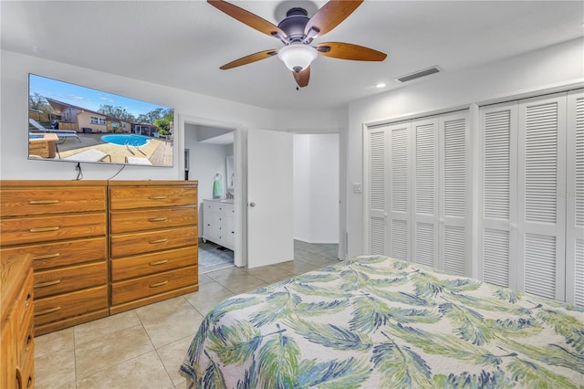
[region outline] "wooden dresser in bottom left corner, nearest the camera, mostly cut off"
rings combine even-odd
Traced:
[[[0,296],[0,388],[32,388],[35,340],[30,255],[0,257]]]

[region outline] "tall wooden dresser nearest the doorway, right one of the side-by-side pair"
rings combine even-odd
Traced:
[[[110,181],[110,313],[199,289],[197,183]]]

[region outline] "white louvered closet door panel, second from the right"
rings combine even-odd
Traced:
[[[564,300],[566,94],[522,100],[518,135],[517,288]]]

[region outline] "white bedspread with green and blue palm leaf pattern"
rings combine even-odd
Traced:
[[[364,256],[224,300],[194,387],[584,387],[584,309]]]

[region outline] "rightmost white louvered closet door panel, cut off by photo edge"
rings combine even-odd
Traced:
[[[566,300],[584,307],[584,92],[568,94]]]

